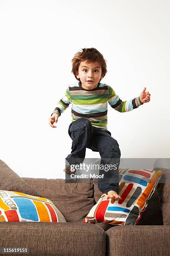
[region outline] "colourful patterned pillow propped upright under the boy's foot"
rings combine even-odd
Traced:
[[[83,223],[137,225],[161,176],[161,171],[150,169],[119,169],[118,194],[122,199],[114,200],[106,194],[101,195]]]

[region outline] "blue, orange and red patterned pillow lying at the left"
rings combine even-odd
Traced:
[[[54,203],[16,191],[0,190],[0,222],[66,222]]]

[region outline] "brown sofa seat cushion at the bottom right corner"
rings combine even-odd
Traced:
[[[106,231],[108,256],[170,255],[170,226],[116,226]]]

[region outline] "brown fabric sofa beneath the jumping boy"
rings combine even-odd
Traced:
[[[2,174],[8,172],[10,175],[13,172],[3,161],[0,164]],[[14,188],[11,183],[3,183],[1,180],[0,189],[7,190],[9,186],[8,190],[17,191],[17,176],[15,174],[16,179],[13,179]],[[5,179],[5,176],[1,175],[0,179]],[[38,191],[37,196],[54,202],[67,223],[0,222],[0,248],[28,248],[29,251],[28,254],[10,255],[170,255],[170,225],[163,225],[158,186],[148,200],[138,225],[113,226],[83,223],[87,213],[102,195],[95,181],[86,179],[86,182],[65,183],[64,179],[28,177],[22,180],[25,186],[32,188],[32,195],[33,191]]]

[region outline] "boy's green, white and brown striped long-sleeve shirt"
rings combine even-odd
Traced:
[[[76,81],[67,87],[65,96],[57,102],[52,114],[57,113],[60,116],[72,103],[72,122],[84,117],[88,118],[93,126],[107,130],[107,102],[119,112],[128,112],[143,104],[139,97],[128,101],[120,100],[107,84],[99,82],[95,89],[86,90],[82,88],[81,82]]]

